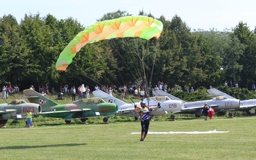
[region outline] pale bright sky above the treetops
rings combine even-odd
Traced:
[[[240,21],[250,30],[256,26],[256,1],[254,0],[0,0],[0,17],[11,14],[18,22],[25,13],[48,13],[56,19],[77,19],[83,26],[90,26],[105,13],[126,11],[138,15],[140,10],[156,18],[164,15],[172,20],[178,15],[191,29],[231,29]]]

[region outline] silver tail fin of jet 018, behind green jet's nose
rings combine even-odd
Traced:
[[[113,103],[117,104],[117,106],[123,106],[124,104],[127,104],[126,102],[124,102],[120,99],[117,99],[116,97],[113,97],[113,96],[109,95],[108,93],[103,92],[101,90],[95,90],[92,93],[95,97],[101,98],[105,102],[113,102]]]

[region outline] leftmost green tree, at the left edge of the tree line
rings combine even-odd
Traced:
[[[26,79],[24,65],[29,56],[19,33],[19,24],[12,15],[4,15],[0,19],[0,81],[2,84],[20,85]]]

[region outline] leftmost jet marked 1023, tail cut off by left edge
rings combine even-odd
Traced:
[[[27,103],[22,99],[10,100],[0,104],[0,124],[6,127],[5,125],[9,119],[24,119],[28,111],[31,111],[33,116],[38,116],[42,108],[38,104]]]

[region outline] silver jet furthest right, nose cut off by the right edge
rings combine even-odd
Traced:
[[[228,97],[228,99],[235,99],[234,97],[227,95],[226,93],[221,92],[220,90],[217,90],[216,88],[211,88],[210,90],[207,90],[209,94],[220,94],[224,95],[225,97]],[[249,115],[254,114],[256,109],[256,99],[248,99],[248,100],[240,100],[240,108],[238,108],[238,111],[246,111]]]

